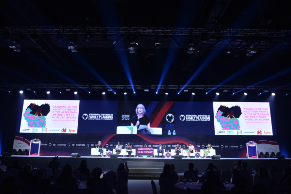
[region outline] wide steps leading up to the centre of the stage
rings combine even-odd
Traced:
[[[127,167],[128,179],[157,180],[163,171],[164,162],[128,161]]]

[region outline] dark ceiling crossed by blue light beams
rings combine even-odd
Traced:
[[[0,26],[83,26],[83,27],[183,27],[235,29],[291,29],[290,1],[35,1],[10,0],[0,7]],[[213,17],[220,17],[218,23]],[[282,37],[209,36],[202,43],[194,37],[195,51],[188,54],[189,37],[177,36],[181,46],[171,37],[139,36],[135,53],[128,52],[130,40],[123,37],[114,48],[116,36],[92,35],[90,42],[78,35],[74,42],[78,52],[67,48],[71,35],[11,33],[10,41],[0,40],[0,83],[44,84],[130,84],[126,76],[128,65],[133,84],[158,85],[165,66],[169,65],[163,84],[184,85],[196,72],[191,85],[216,85],[237,72],[226,85],[251,85],[279,72],[260,85],[284,85],[291,82],[291,41]],[[11,41],[21,45],[21,52],[9,48]],[[246,57],[247,48],[255,45],[257,53]],[[231,51],[229,54],[227,51]],[[96,72],[96,73],[95,73]]]

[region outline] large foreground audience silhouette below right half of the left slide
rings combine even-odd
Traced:
[[[70,164],[66,164],[61,174],[56,180],[56,183],[61,184],[66,188],[66,193],[78,193],[79,187],[77,180],[73,175],[73,167]]]

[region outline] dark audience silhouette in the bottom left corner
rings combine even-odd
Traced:
[[[19,194],[20,192],[18,188],[17,177],[13,175],[8,175],[1,184],[0,193]]]

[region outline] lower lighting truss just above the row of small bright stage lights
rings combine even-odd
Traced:
[[[101,88],[112,88],[112,89],[118,89],[118,88],[132,88],[131,85],[89,85],[89,84],[83,84],[83,85],[75,85],[75,84],[0,84],[0,87],[23,87],[23,88],[92,88],[92,89],[101,89]],[[134,89],[140,89],[142,87],[147,87],[149,89],[157,89],[159,85],[149,85],[149,86],[143,86],[143,85],[133,85]],[[184,85],[160,85],[160,89],[181,89]],[[291,86],[248,86],[248,85],[187,85],[184,89],[244,89],[248,87],[247,89],[260,89],[260,90],[271,90],[276,88],[276,90],[281,89],[291,89]]]

